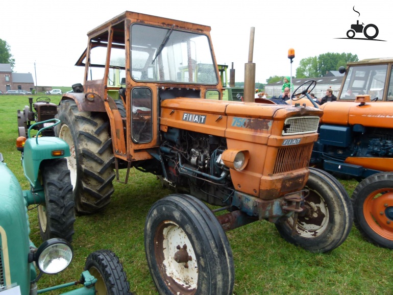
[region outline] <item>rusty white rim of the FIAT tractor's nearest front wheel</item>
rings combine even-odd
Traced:
[[[196,263],[195,253],[191,246],[186,233],[181,227],[174,222],[165,222],[170,224],[163,228],[163,254],[166,275],[172,278],[176,283],[191,291],[196,288],[198,283],[198,263]],[[179,251],[179,246],[183,248],[186,245],[188,255],[191,260],[187,263],[178,263],[174,257]],[[188,268],[185,267],[186,264]]]

